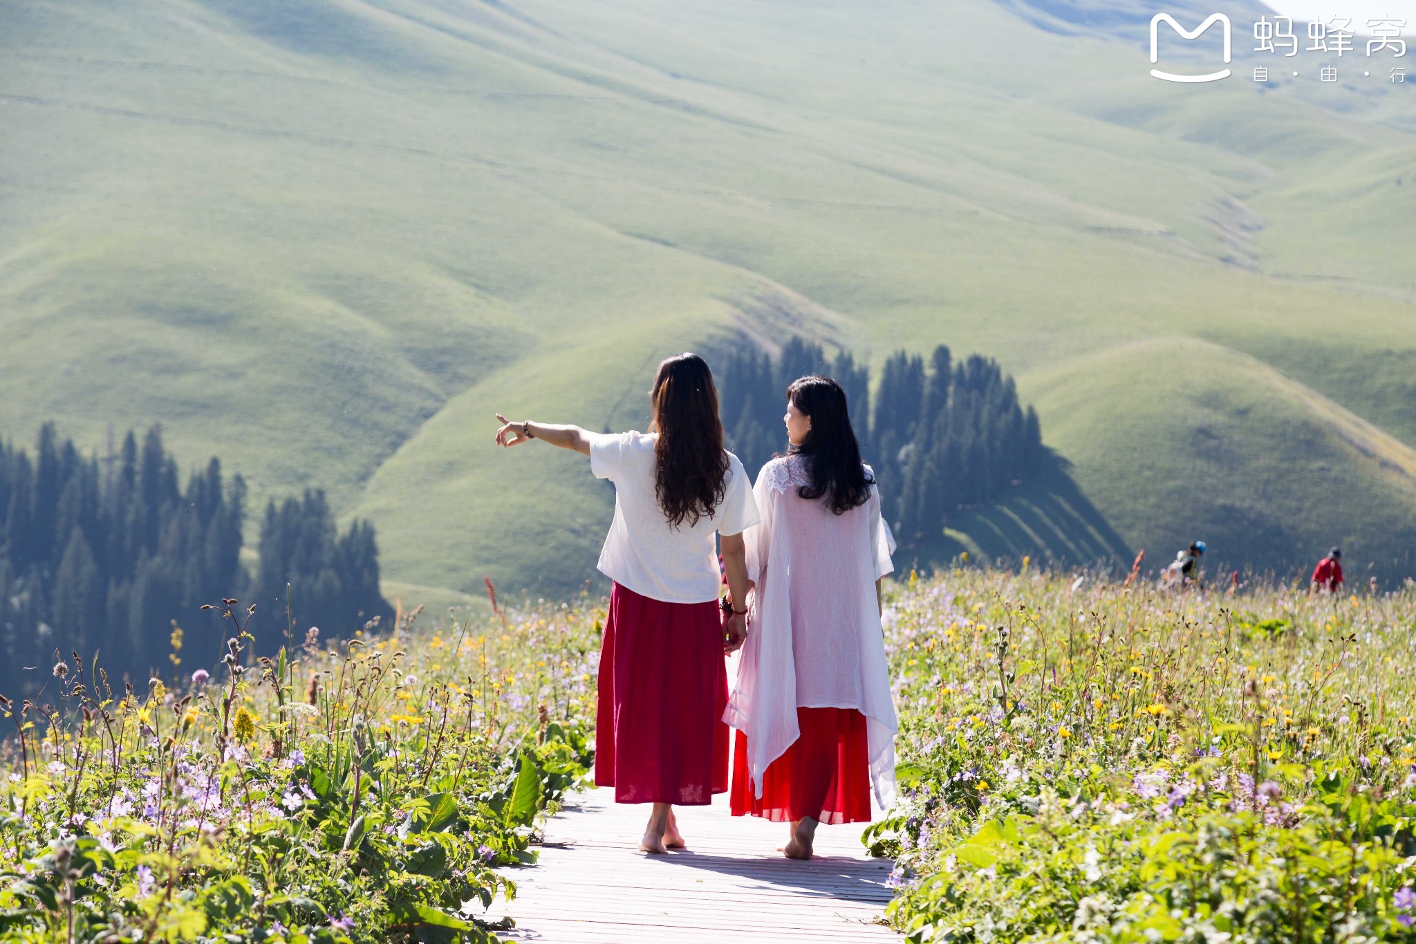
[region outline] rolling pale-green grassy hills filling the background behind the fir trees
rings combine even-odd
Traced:
[[[409,601],[564,594],[607,493],[493,410],[623,427],[684,348],[946,341],[1076,483],[966,543],[1409,572],[1416,86],[1247,81],[1257,7],[1235,79],[1157,82],[1141,7],[6,3],[0,430],[160,419],[371,517]]]

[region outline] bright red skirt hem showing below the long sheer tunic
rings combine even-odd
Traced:
[[[732,759],[732,815],[826,824],[871,821],[871,752],[865,715],[854,708],[799,708],[801,735],[773,760],[758,800],[748,774],[748,736],[738,732]]]

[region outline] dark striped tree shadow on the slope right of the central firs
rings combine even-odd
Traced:
[[[901,545],[896,565],[933,566],[963,552],[997,563],[1037,562],[1114,568],[1133,551],[1072,478],[1070,463],[1049,450],[1042,471],[1003,498],[961,512],[935,541]]]

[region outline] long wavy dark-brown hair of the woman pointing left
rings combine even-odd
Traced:
[[[728,485],[718,388],[697,354],[666,358],[649,393],[654,443],[654,494],[668,524],[711,518]]]

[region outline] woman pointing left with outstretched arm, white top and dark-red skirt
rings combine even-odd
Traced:
[[[590,457],[615,483],[615,519],[599,569],[613,580],[600,648],[595,783],[616,802],[651,802],[640,849],[683,846],[673,804],[705,805],[728,790],[725,654],[746,635],[719,611],[721,535],[728,586],[748,593],[742,532],[758,522],[748,474],[722,446],[708,364],[680,354],[658,365],[649,434],[497,419],[498,446],[538,439]]]

